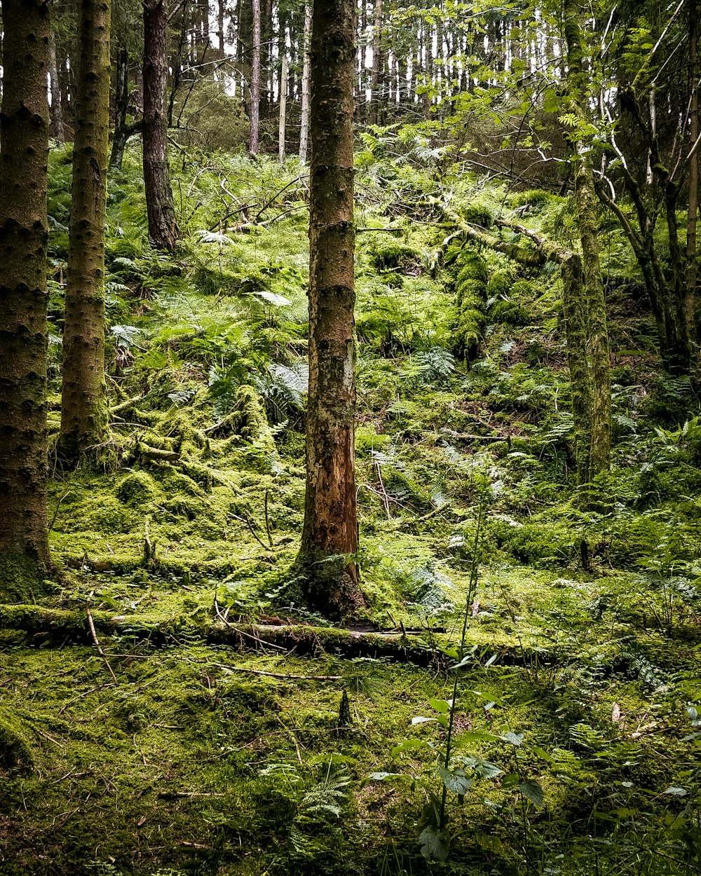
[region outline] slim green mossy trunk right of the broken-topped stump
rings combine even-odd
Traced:
[[[584,352],[584,361],[577,368],[588,368],[591,376],[591,452],[588,471],[578,469],[580,484],[591,483],[601,472],[608,469],[611,455],[611,374],[606,329],[604,283],[598,252],[596,192],[591,161],[591,142],[582,131],[588,123],[587,97],[589,94],[584,71],[586,43],[579,16],[578,0],[565,0],[563,4],[564,37],[567,44],[568,86],[570,102],[575,110],[578,125],[571,134],[575,150],[575,201],[577,224],[582,242],[582,265],[584,268],[584,314],[581,330],[584,332],[584,350],[577,345],[570,350],[570,357]],[[574,305],[572,305],[574,307]],[[579,326],[577,325],[577,330]]]

